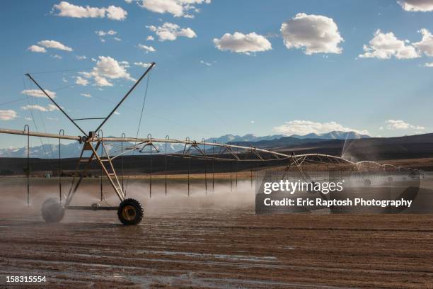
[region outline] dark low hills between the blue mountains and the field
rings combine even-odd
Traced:
[[[79,151],[79,147],[74,147],[76,144],[67,145],[70,149]],[[296,137],[280,137],[274,140],[260,140],[258,142],[240,142],[240,145],[260,147],[263,149],[272,149],[286,154],[331,154],[334,156],[343,156],[354,162],[357,161],[381,161],[381,160],[398,160],[398,159],[425,159],[433,158],[433,133],[424,135],[410,135],[405,137],[369,137],[362,139],[352,140],[321,140],[321,139],[299,139]],[[45,147],[45,149],[47,149]],[[64,147],[62,146],[62,150]],[[21,157],[0,157],[0,173],[2,174],[23,174],[25,167],[25,159],[23,154],[25,150],[18,149],[15,153],[20,154]],[[51,153],[51,152],[50,152]],[[55,154],[55,152],[54,152]],[[244,152],[250,154],[250,152]],[[256,159],[253,154],[250,156]],[[280,160],[277,163],[260,162],[257,159],[255,166],[265,167],[268,165],[284,165],[287,160]],[[408,161],[409,162],[409,161]],[[415,164],[416,162],[409,162]],[[125,157],[125,170],[128,174],[146,174],[150,171],[150,157],[149,154],[138,154],[134,156]],[[165,171],[165,158],[163,154],[152,156],[152,172]],[[231,164],[231,163],[230,163]],[[431,162],[418,162],[422,169],[432,170]],[[33,171],[51,171],[57,167],[57,159],[31,159],[30,165]],[[180,172],[185,173],[188,168],[191,172],[203,172],[209,162],[201,159],[187,159],[182,157],[171,157],[169,160],[169,170],[174,171],[175,174]],[[65,171],[74,170],[76,166],[76,159],[64,159],[62,161],[62,169]],[[120,167],[120,158],[115,159],[115,166]],[[250,162],[239,162],[236,167],[240,170],[250,169]],[[411,165],[412,166],[412,165]],[[421,167],[420,167],[421,168]],[[98,164],[93,163],[91,166],[92,174],[99,174],[100,169]],[[230,171],[233,169],[229,162],[216,162],[216,171]]]

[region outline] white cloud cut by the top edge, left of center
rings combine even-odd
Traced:
[[[200,12],[199,4],[210,4],[211,0],[142,0],[142,8],[155,13],[170,13],[175,17],[194,18],[188,11]]]

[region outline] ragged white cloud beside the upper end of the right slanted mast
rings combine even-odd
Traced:
[[[93,79],[96,86],[112,86],[108,79],[128,79],[134,81],[127,72],[128,62],[117,62],[112,57],[100,56],[91,72],[79,72],[87,79]],[[78,78],[77,78],[78,79]]]

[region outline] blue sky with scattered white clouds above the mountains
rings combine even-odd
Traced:
[[[3,1],[0,24],[0,128],[81,135],[26,73],[101,118],[156,62],[103,135],[433,130],[433,0]]]

